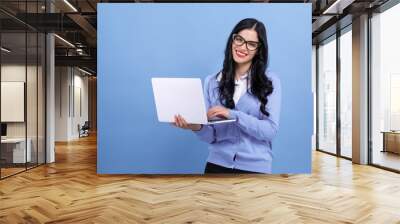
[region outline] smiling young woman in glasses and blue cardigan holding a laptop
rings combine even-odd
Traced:
[[[278,77],[266,71],[267,63],[264,24],[251,18],[240,21],[228,38],[222,71],[204,81],[208,118],[236,121],[200,125],[175,116],[175,126],[192,130],[210,144],[205,173],[271,173],[281,86]]]

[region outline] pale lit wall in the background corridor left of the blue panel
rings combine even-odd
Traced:
[[[56,141],[79,138],[78,124],[88,120],[88,77],[76,68],[56,67],[55,120]]]

